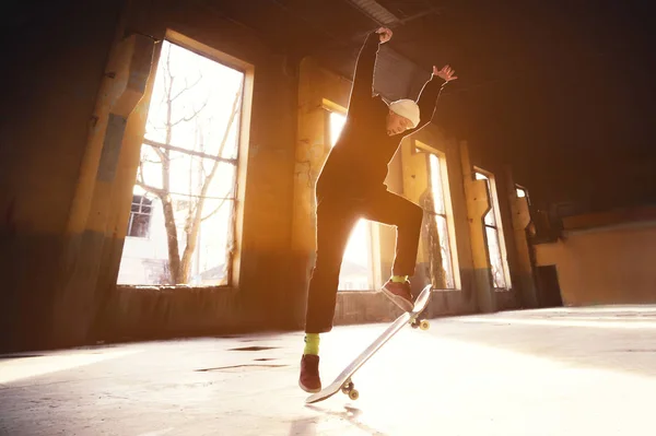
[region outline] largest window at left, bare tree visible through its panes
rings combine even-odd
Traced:
[[[118,283],[227,283],[245,80],[162,43]]]

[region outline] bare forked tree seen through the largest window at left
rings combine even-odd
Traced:
[[[191,272],[191,263],[194,252],[198,246],[198,235],[200,231],[200,225],[202,221],[209,219],[214,213],[216,213],[221,207],[225,202],[225,198],[227,195],[223,197],[220,201],[219,205],[209,214],[203,215],[203,208],[206,205],[206,199],[208,197],[208,192],[214,176],[219,169],[219,166],[222,162],[235,164],[234,160],[224,158],[223,150],[230,137],[231,129],[237,118],[241,107],[241,96],[242,96],[242,87],[243,83],[239,86],[238,91],[235,94],[232,111],[230,114],[227,126],[223,132],[223,137],[219,144],[219,150],[215,154],[207,154],[206,144],[204,144],[204,135],[203,135],[203,122],[200,120],[200,116],[202,115],[203,109],[208,104],[208,99],[202,102],[200,107],[192,108],[190,114],[183,115],[178,119],[174,119],[174,105],[175,102],[185,93],[192,90],[196,85],[198,85],[202,75],[199,73],[198,80],[194,83],[188,83],[185,79],[185,85],[180,87],[179,91],[174,93],[174,84],[176,83],[176,75],[173,74],[171,70],[171,48],[166,51],[166,62],[163,68],[164,70],[164,99],[163,104],[166,108],[166,115],[164,120],[164,142],[156,142],[149,139],[143,140],[143,144],[150,146],[155,155],[154,160],[149,158],[149,153],[142,153],[142,158],[138,172],[137,185],[143,188],[145,191],[155,195],[162,202],[163,213],[164,213],[164,225],[166,227],[166,236],[167,236],[167,245],[168,245],[168,271],[169,271],[169,282],[173,284],[185,284],[189,282],[189,276]],[[174,128],[181,122],[190,122],[195,121],[195,141],[192,148],[180,148],[173,145],[173,132]],[[211,122],[211,119],[209,120]],[[186,217],[185,217],[185,247],[181,250],[180,256],[180,247],[178,244],[179,235],[178,228],[176,226],[175,221],[175,205],[174,197],[178,195],[178,192],[172,191],[171,186],[171,175],[172,175],[172,161],[175,157],[172,156],[172,151],[186,153],[188,150],[188,155],[191,156],[192,162],[197,160],[198,169],[200,174],[200,179],[198,181],[198,186],[196,187],[198,193],[192,193],[195,190],[191,186],[189,187],[189,195],[187,197],[187,201],[184,202],[186,208]],[[206,160],[211,160],[212,164],[208,170],[206,170],[204,162]],[[147,182],[145,175],[143,170],[143,164],[157,164],[161,169],[162,177],[162,187],[154,187],[152,184]],[[230,192],[229,192],[230,193]],[[177,202],[179,204],[179,201]]]

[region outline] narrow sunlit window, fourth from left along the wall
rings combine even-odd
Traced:
[[[477,169],[476,179],[485,180],[488,184],[488,191],[490,192],[490,211],[485,214],[483,224],[485,226],[490,268],[492,270],[492,284],[495,288],[509,288],[511,279],[505,256],[505,243],[501,215],[499,213],[499,199],[494,176],[490,173]]]

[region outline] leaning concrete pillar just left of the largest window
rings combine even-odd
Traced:
[[[117,164],[128,118],[145,92],[153,49],[153,39],[130,35],[109,56],[65,232],[62,276],[52,307],[51,340],[57,344],[84,341],[97,310]]]

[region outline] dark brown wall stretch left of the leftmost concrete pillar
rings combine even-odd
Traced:
[[[2,38],[0,349],[46,342],[63,231],[121,10],[121,2],[30,5],[30,20]]]

